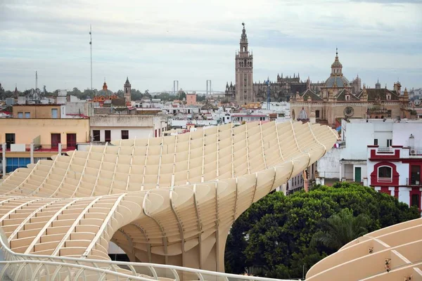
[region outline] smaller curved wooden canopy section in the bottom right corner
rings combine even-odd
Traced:
[[[306,280],[422,280],[422,219],[353,240],[309,269]]]

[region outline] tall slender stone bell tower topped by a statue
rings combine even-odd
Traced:
[[[236,53],[236,103],[245,105],[254,101],[252,54],[248,51],[248,37],[242,22],[241,49]]]

